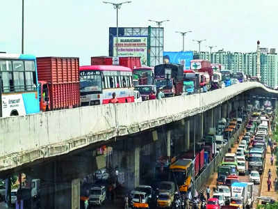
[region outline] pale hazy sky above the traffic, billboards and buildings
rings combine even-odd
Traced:
[[[213,51],[254,52],[278,48],[277,0],[131,0],[119,11],[119,26],[156,26],[147,20],[170,20],[164,51],[197,50],[193,39],[216,45]],[[111,0],[113,3],[122,1]],[[116,10],[99,0],[24,0],[24,53],[35,56],[77,56],[81,65],[90,56],[108,56],[108,29],[116,26]],[[20,53],[22,0],[0,0],[0,52]]]

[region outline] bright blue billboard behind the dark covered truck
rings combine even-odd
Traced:
[[[193,52],[163,52],[163,62],[183,65],[184,70],[190,69],[190,61],[193,60]]]

